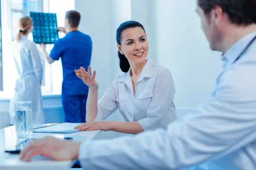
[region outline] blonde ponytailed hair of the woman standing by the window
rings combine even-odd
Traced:
[[[20,36],[26,34],[29,31],[29,28],[32,26],[32,18],[29,16],[23,17],[19,21],[20,31],[16,36],[16,41],[20,41]]]

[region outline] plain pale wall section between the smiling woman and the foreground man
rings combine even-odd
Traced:
[[[195,8],[196,0],[157,0],[157,62],[172,73],[176,106],[196,107],[208,99],[222,67]]]

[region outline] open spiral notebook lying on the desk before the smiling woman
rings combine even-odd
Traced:
[[[79,129],[74,129],[77,123],[60,123],[55,125],[49,125],[44,127],[33,128],[33,132],[36,133],[73,133],[79,131]]]

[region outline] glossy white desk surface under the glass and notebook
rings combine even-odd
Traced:
[[[53,124],[35,124],[33,127],[41,127]],[[79,131],[75,133],[33,133],[32,138],[43,138],[44,136],[63,135],[65,137],[73,137],[74,141],[89,141],[94,139],[96,134],[101,132],[95,131]],[[17,139],[15,126],[0,129],[0,170],[68,170],[72,167],[74,161],[52,161],[41,156],[35,156],[30,162],[19,160],[19,155],[5,153],[5,148],[15,146],[25,139]]]

